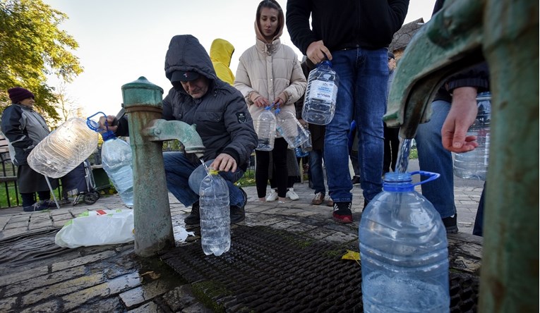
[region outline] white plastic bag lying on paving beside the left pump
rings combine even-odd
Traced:
[[[132,209],[86,211],[68,221],[54,242],[69,248],[129,243],[133,231]]]

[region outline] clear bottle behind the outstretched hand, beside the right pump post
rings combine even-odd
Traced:
[[[467,135],[476,136],[478,147],[469,152],[455,154],[454,174],[460,178],[486,180],[489,163],[491,93],[478,94],[476,103],[478,104],[478,114],[467,131]]]

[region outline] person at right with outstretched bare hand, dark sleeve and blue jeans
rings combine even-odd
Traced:
[[[433,14],[443,7],[444,0],[436,1]],[[443,219],[447,233],[457,233],[457,211],[454,202],[454,172],[452,154],[448,150],[448,144],[443,145],[445,134],[443,123],[452,115],[450,110],[458,108],[460,116],[467,116],[468,121],[463,121],[460,130],[467,133],[467,128],[472,125],[476,118],[476,95],[479,92],[489,91],[489,71],[487,63],[482,63],[474,68],[464,70],[449,78],[443,87],[438,90],[435,99],[431,103],[431,120],[420,124],[416,130],[416,147],[421,171],[440,173],[440,177],[431,183],[421,185],[422,195],[426,197]],[[467,111],[463,111],[464,109]],[[474,111],[472,117],[469,111]],[[472,120],[471,120],[472,118]],[[448,122],[449,123],[449,122]],[[442,135],[441,135],[441,132]],[[460,138],[462,147],[454,149],[455,152],[465,152],[474,149],[476,142],[468,137]],[[452,147],[452,143],[450,143]],[[482,192],[484,195],[484,192]],[[483,210],[483,201],[479,211]],[[478,233],[476,233],[478,234]]]

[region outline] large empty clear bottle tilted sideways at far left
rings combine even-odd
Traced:
[[[28,165],[44,176],[60,178],[88,159],[97,138],[82,118],[70,118],[32,149]]]

